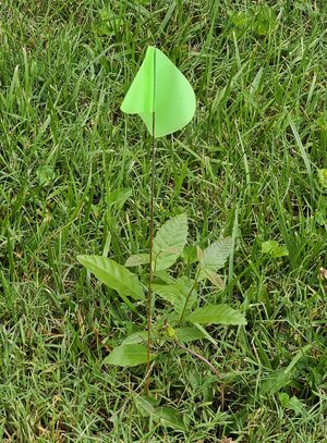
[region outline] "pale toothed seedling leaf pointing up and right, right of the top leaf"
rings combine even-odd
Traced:
[[[233,247],[231,237],[220,238],[211,243],[199,256],[199,280],[208,278],[211,272],[223,268]]]

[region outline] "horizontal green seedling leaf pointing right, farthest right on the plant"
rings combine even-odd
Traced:
[[[186,320],[201,324],[246,324],[244,315],[228,305],[206,305],[190,313]]]

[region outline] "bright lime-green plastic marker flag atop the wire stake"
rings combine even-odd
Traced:
[[[162,137],[184,127],[195,112],[195,95],[184,75],[159,49],[149,46],[121,104],[140,114],[149,133]]]

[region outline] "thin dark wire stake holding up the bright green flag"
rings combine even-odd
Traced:
[[[149,271],[148,271],[148,293],[147,293],[147,358],[146,358],[146,381],[145,392],[148,395],[150,382],[150,347],[152,347],[152,299],[153,299],[153,268],[154,268],[154,207],[155,207],[155,176],[156,176],[156,51],[154,53],[154,112],[153,112],[153,138],[152,138],[152,179],[150,179],[150,245],[149,245]]]

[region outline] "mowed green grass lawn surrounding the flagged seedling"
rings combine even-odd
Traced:
[[[1,2],[2,442],[327,441],[326,23],[324,0]],[[156,226],[185,211],[191,243],[233,236],[206,296],[247,319],[191,344],[225,410],[202,361],[156,360],[184,431],[140,408],[144,367],[104,365],[145,324],[76,260],[148,248],[150,140],[119,107],[154,44],[197,97],[157,144]]]

